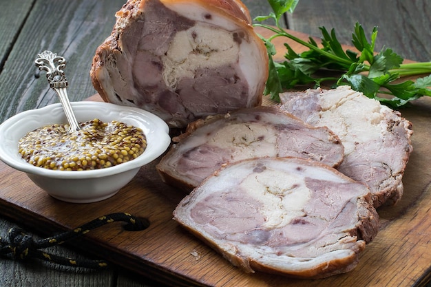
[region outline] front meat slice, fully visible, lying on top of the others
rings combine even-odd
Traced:
[[[227,164],[174,219],[246,272],[307,279],[355,268],[379,221],[365,184],[299,158]]]

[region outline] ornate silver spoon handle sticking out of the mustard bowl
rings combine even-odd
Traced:
[[[66,67],[65,59],[51,51],[43,51],[37,56],[39,58],[37,58],[34,63],[36,67],[39,67],[39,70],[46,71],[46,77],[48,78],[50,87],[59,95],[61,105],[63,105],[67,121],[70,125],[70,130],[78,131],[81,128],[78,125],[78,121],[72,110],[72,105],[70,105],[69,98],[67,97],[67,80],[63,72],[63,69]]]

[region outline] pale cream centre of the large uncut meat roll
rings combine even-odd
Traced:
[[[162,56],[162,77],[175,89],[178,78],[193,78],[202,68],[238,63],[240,46],[232,33],[201,23],[176,33],[166,56]]]

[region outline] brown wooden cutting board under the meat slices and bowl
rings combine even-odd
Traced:
[[[276,45],[282,53],[281,39]],[[185,193],[162,183],[155,169],[157,160],[140,169],[114,197],[91,204],[55,200],[24,173],[0,162],[0,213],[45,235],[108,213],[124,211],[147,217],[150,226],[145,231],[125,231],[115,223],[87,233],[74,245],[172,286],[422,286],[430,279],[431,268],[431,98],[421,98],[401,112],[414,129],[403,198],[397,206],[378,210],[381,231],[361,254],[357,268],[343,275],[299,280],[246,274],[231,266],[172,220],[172,211]]]

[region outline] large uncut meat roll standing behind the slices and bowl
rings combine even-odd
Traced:
[[[186,127],[260,105],[268,56],[239,0],[129,0],[96,50],[90,76],[103,100]]]

